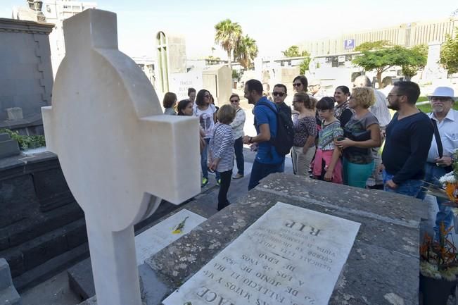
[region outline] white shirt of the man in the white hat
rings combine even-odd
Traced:
[[[428,113],[428,116],[438,123],[443,156],[452,156],[453,151],[458,148],[458,111],[450,108],[447,116],[440,123],[433,115],[433,112]],[[438,144],[435,142],[435,137],[433,137],[427,161],[434,162],[435,158],[439,158],[439,151]]]

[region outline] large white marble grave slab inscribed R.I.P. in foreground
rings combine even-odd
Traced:
[[[328,304],[359,228],[277,202],[163,304]]]

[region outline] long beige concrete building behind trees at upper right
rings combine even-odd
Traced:
[[[428,45],[430,42],[444,42],[445,36],[456,34],[458,16],[441,20],[402,23],[393,27],[348,33],[339,37],[305,41],[298,44],[302,50],[307,50],[312,56],[329,54],[345,54],[355,51],[355,47],[363,42],[388,40],[391,44],[400,46]]]

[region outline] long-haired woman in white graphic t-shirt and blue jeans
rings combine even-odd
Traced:
[[[196,108],[194,108],[193,115],[199,118],[199,123],[205,133],[203,138],[208,144],[216,122],[216,108],[210,104],[210,92],[208,90],[202,89],[197,93]],[[208,185],[207,146],[205,146],[201,153],[202,187]],[[218,173],[216,173],[216,178],[217,184],[219,184],[220,175]]]

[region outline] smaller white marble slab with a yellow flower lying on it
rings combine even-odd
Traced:
[[[172,244],[179,237],[191,232],[193,228],[196,228],[205,220],[207,218],[183,208],[157,225],[136,235],[135,250],[137,266],[144,263],[145,259],[148,259],[169,244]],[[184,226],[181,232],[174,232],[182,222],[184,222]]]

